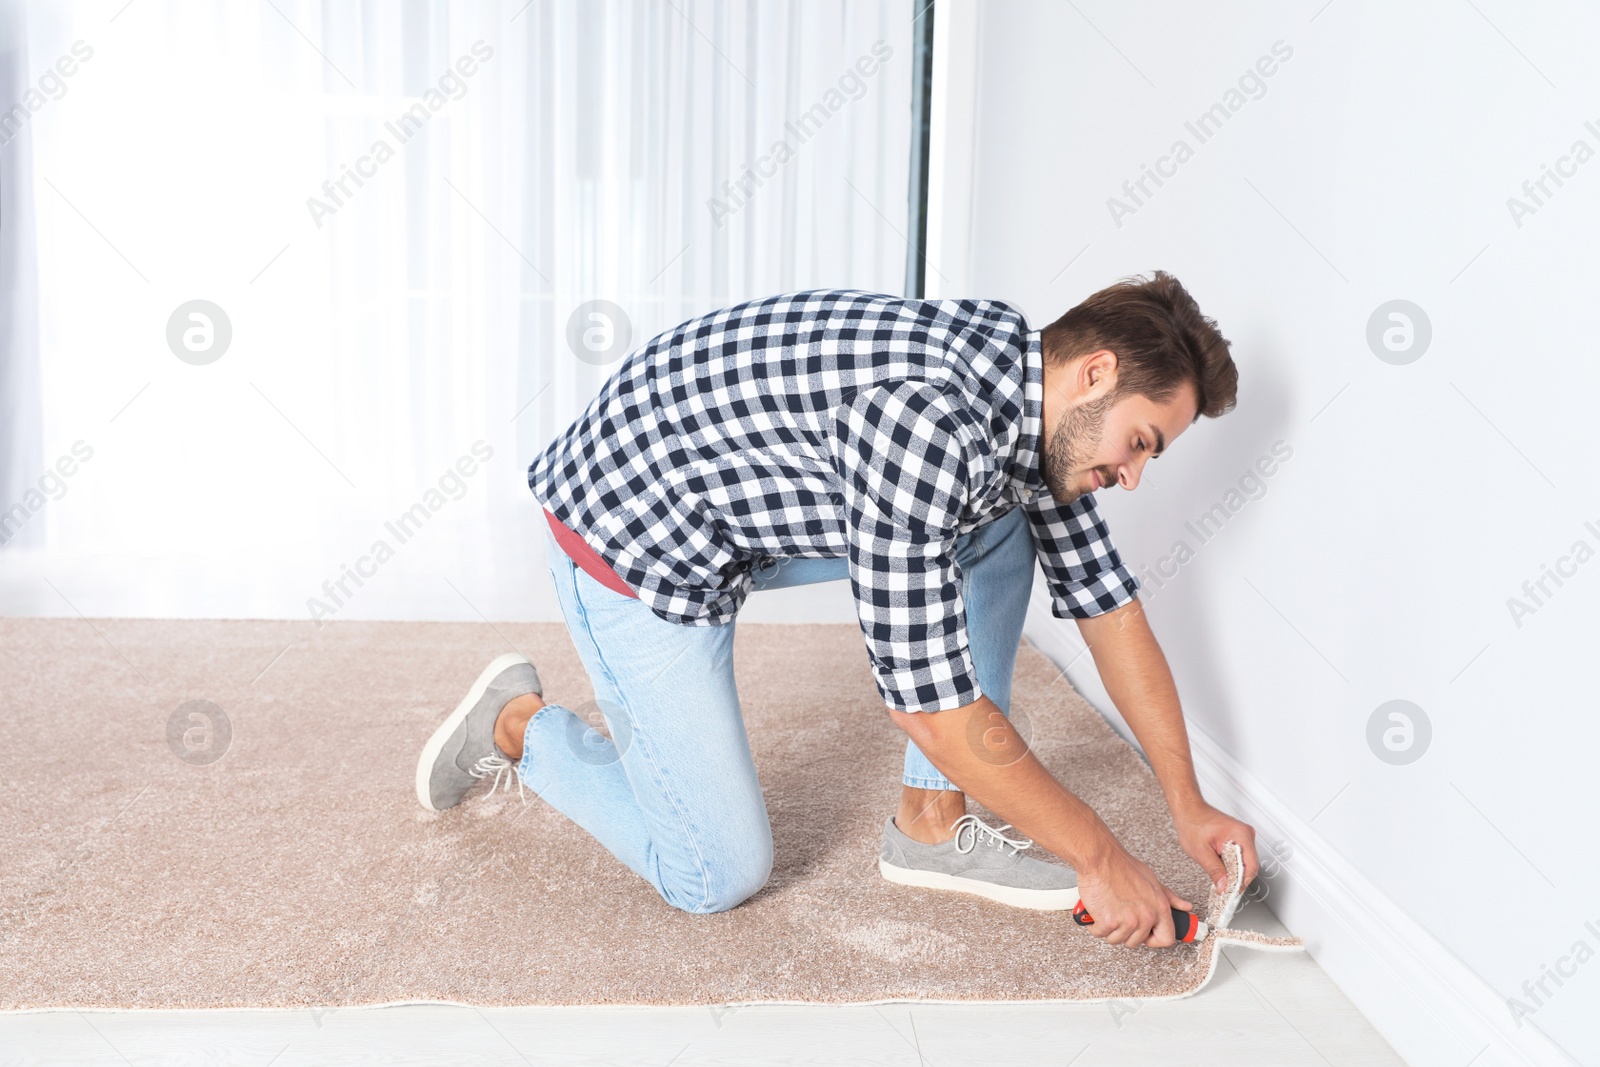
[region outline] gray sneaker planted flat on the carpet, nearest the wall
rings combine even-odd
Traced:
[[[894,816],[883,824],[878,872],[902,886],[955,889],[1040,912],[1070,912],[1078,902],[1078,875],[1072,867],[1048,864],[1022,849],[1034,843],[984,825],[978,816],[955,821],[955,838],[923,845],[901,833]]]

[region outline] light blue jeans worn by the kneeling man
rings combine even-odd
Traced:
[[[766,885],[773,832],[733,683],[738,621],[667,622],[578,568],[547,526],[546,555],[595,699],[578,709],[552,702],[536,712],[523,734],[518,774],[672,907],[704,913],[741,904]],[[978,685],[1010,713],[1011,672],[1034,584],[1034,542],[1022,509],[963,534],[955,558]],[[848,581],[850,573],[843,558],[787,558],[755,571],[754,579],[762,590]],[[610,737],[592,728],[598,717]],[[901,781],[955,789],[909,742]]]

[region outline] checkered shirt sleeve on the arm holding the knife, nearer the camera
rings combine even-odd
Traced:
[[[938,389],[862,389],[835,413],[850,584],[883,701],[902,712],[971,704],[982,693],[966,640],[955,539],[979,450]]]

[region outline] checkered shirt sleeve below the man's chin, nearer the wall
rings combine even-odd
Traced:
[[[1139,593],[1138,579],[1123,566],[1106,522],[1094,510],[1093,493],[1072,504],[1059,504],[1043,493],[1024,507],[1053,616],[1091,619]]]

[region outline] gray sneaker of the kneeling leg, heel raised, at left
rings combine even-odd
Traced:
[[[494,776],[490,792],[499,789],[507,773],[517,779],[522,793],[522,776],[517,761],[494,744],[494,720],[501,709],[525,693],[538,693],[539,672],[525,656],[506,653],[478,675],[450,718],[434,731],[422,745],[422,758],[416,763],[416,798],[429,811],[454,808],[469,789]],[[510,779],[506,781],[510,790]],[[523,803],[526,795],[523,793]]]

